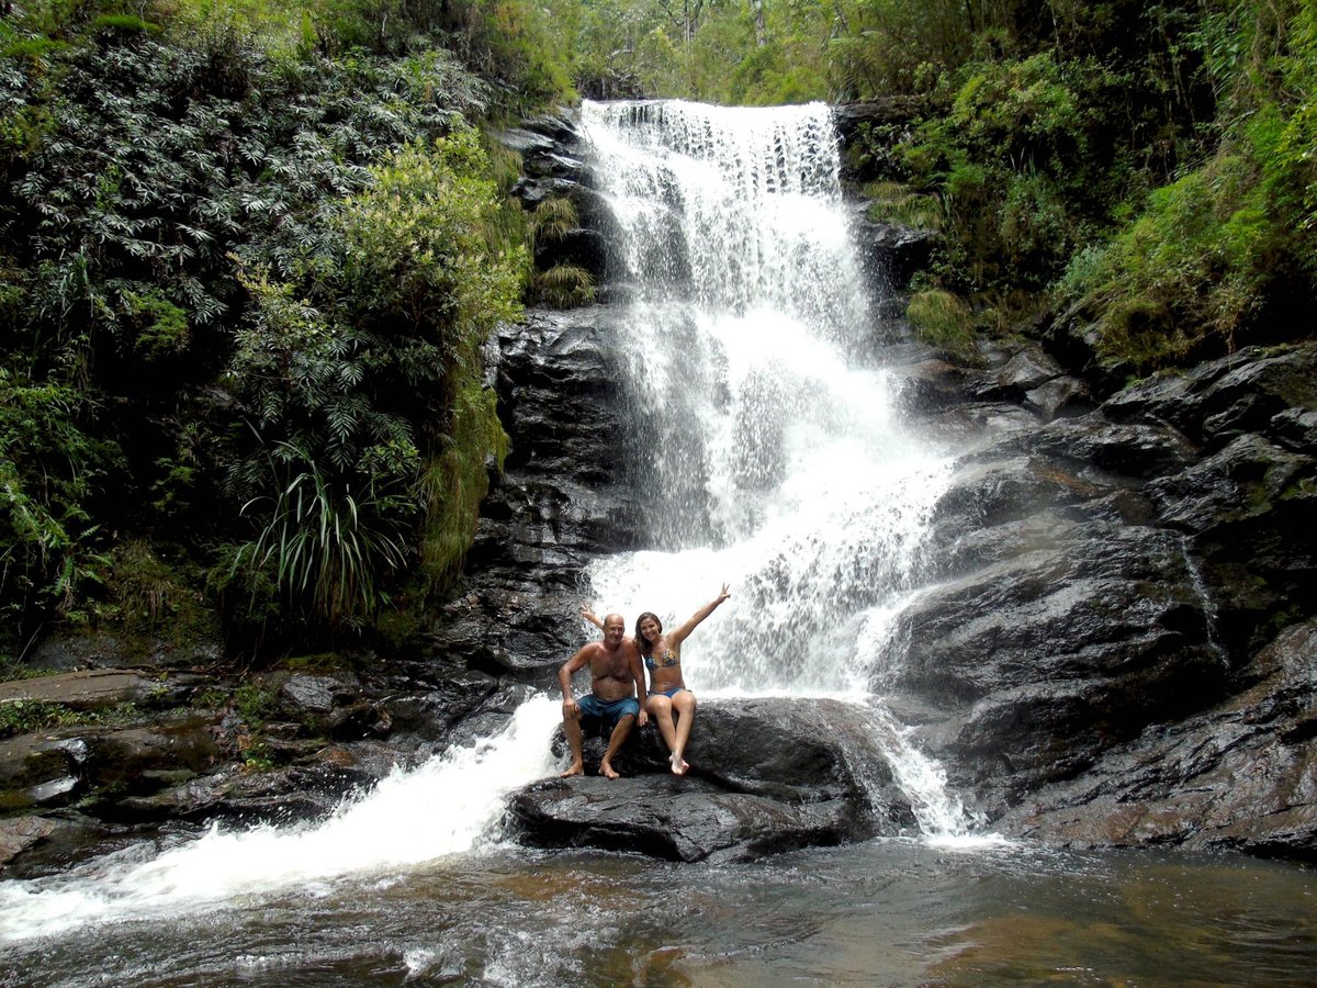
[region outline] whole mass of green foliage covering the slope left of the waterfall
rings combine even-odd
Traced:
[[[37,5],[0,37],[0,224],[18,234],[0,253],[5,647],[88,613],[178,622],[196,568],[155,574],[162,603],[111,532],[223,557],[221,594],[246,544],[244,595],[266,619],[290,595],[349,622],[382,599],[454,395],[527,278],[524,220],[464,123],[506,95],[431,43],[446,17]],[[493,11],[475,21],[500,30]],[[299,497],[336,522],[338,555],[302,545],[275,588],[274,557],[252,565]],[[112,560],[125,580],[101,589]]]

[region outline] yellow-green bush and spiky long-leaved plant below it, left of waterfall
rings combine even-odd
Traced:
[[[503,236],[489,167],[471,129],[408,145],[325,213],[321,252],[290,265],[298,283],[245,277],[257,308],[230,381],[261,447],[232,480],[274,491],[248,502],[263,520],[234,566],[269,570],[331,623],[386,599],[423,518],[423,568],[452,572],[485,457],[506,443],[479,352],[518,314],[528,261]]]

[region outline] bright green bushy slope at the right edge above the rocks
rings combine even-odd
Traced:
[[[1060,281],[1063,299],[1096,315],[1104,356],[1155,369],[1233,350],[1268,310],[1299,316],[1317,302],[1314,12],[1284,9],[1206,20],[1198,40],[1231,115],[1221,144]]]

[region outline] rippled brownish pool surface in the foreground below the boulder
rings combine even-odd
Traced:
[[[499,850],[0,948],[8,984],[1312,984],[1310,871],[878,842],[757,864]]]

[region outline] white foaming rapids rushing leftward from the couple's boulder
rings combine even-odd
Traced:
[[[395,771],[312,827],[212,829],[142,863],[107,858],[58,879],[0,883],[0,942],[288,888],[315,892],[341,875],[469,851],[495,833],[508,790],[553,771],[549,736],[561,717],[552,700],[531,700],[502,734]]]

